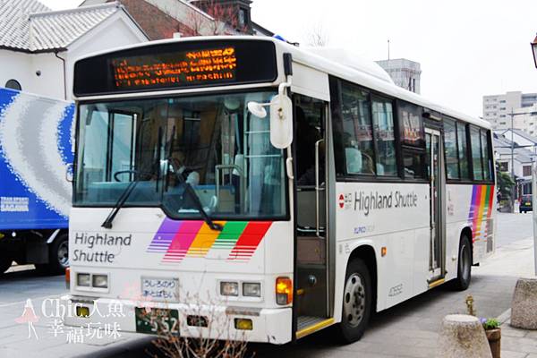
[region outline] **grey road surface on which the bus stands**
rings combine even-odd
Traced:
[[[466,294],[473,294],[478,312],[482,316],[496,317],[509,308],[518,272],[506,273],[503,270],[499,271],[498,268],[515,267],[515,263],[521,261],[515,255],[524,250],[532,251],[531,247],[527,247],[531,246],[531,243],[523,240],[533,234],[531,218],[531,214],[499,214],[497,222],[499,255],[490,260],[493,262],[485,262],[482,267],[474,268],[473,284],[466,292],[454,293],[447,287],[440,286],[406,303],[380,312],[373,317],[366,335],[354,345],[337,345],[334,339],[337,333],[334,329],[328,329],[306,337],[295,345],[251,345],[251,353],[255,353],[256,357],[277,355],[280,358],[434,355],[441,318],[448,313],[464,312]],[[503,260],[506,261],[502,265]],[[40,276],[31,267],[12,268],[12,272],[0,278],[0,358],[12,356],[147,358],[157,353],[150,342],[152,337],[135,334],[124,334],[119,339],[87,340],[84,344],[67,345],[65,337],[52,336],[50,322],[46,320],[35,323],[39,340],[29,339],[29,328],[15,322],[21,317],[26,300],[30,298],[38,311],[37,308],[45,299],[55,299],[65,292],[64,277]]]

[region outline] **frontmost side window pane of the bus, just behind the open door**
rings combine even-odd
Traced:
[[[342,83],[341,137],[345,149],[345,173],[375,174],[369,93]]]

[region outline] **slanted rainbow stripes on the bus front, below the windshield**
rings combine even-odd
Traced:
[[[181,262],[186,257],[204,258],[210,250],[230,251],[227,260],[250,260],[272,225],[270,221],[217,221],[222,231],[204,221],[175,221],[166,217],[147,249],[164,253],[163,263]]]

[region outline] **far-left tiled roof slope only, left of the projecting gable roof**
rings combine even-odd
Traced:
[[[37,0],[0,0],[0,47],[30,49],[30,13],[46,11]]]

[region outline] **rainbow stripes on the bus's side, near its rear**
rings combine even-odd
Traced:
[[[472,240],[487,241],[490,231],[490,216],[494,203],[494,185],[473,185],[472,202],[468,221],[472,227]]]

